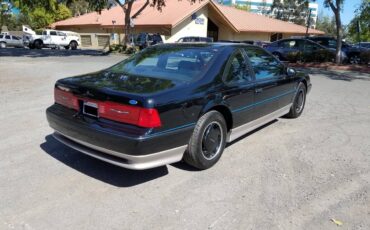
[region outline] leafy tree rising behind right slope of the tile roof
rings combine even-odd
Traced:
[[[271,15],[276,19],[305,25],[308,16],[309,0],[274,0]]]

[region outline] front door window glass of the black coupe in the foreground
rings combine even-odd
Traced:
[[[284,66],[271,54],[259,47],[245,47],[245,52],[253,68],[256,80],[277,78],[283,72]]]

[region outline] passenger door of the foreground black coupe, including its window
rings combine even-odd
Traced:
[[[294,96],[294,80],[285,66],[260,47],[244,48],[254,72],[254,119],[289,107]]]

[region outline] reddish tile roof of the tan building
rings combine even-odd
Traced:
[[[144,3],[143,0],[135,1],[132,12],[135,13]],[[235,32],[262,32],[262,33],[292,33],[304,34],[306,27],[293,23],[284,22],[263,15],[258,15],[234,7],[219,5],[212,0],[196,1],[190,3],[188,0],[167,0],[162,11],[153,7],[147,7],[135,20],[135,26],[168,26],[175,27],[177,24],[190,17],[193,13],[209,4],[210,8],[216,10]],[[124,13],[121,7],[113,7],[103,10],[101,14],[96,12],[82,16],[66,19],[52,24],[52,27],[60,26],[86,26],[99,25],[102,27],[124,25]],[[322,31],[310,29],[310,34],[324,34]]]

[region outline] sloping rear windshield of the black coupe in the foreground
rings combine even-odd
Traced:
[[[218,51],[214,47],[152,46],[113,66],[109,71],[191,81],[212,64]]]

